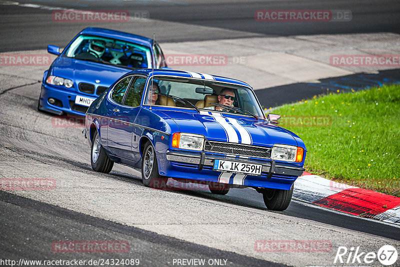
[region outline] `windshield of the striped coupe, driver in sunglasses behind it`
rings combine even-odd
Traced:
[[[144,104],[147,105],[151,103],[205,111],[215,110],[264,118],[254,92],[241,85],[154,76],[152,81],[150,79],[148,82],[145,93]]]

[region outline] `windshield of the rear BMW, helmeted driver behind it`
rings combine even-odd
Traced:
[[[131,69],[151,66],[149,47],[101,36],[79,35],[65,56]]]

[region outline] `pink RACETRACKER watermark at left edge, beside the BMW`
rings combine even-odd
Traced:
[[[0,54],[0,66],[48,66],[49,54]]]

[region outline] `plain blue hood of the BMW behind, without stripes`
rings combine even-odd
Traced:
[[[58,57],[52,64],[50,75],[68,78],[74,81],[75,88],[79,82],[110,86],[117,78],[131,69],[80,59]]]

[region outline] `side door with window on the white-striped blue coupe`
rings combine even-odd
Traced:
[[[137,143],[133,136],[134,120],[140,110],[140,101],[143,94],[146,77],[142,75],[131,76],[130,83],[124,93],[122,103],[110,115],[108,130],[111,149],[121,158],[137,161],[132,153],[132,144]],[[126,83],[126,82],[125,82]],[[112,123],[111,123],[112,121]]]

